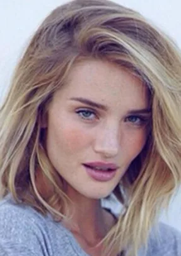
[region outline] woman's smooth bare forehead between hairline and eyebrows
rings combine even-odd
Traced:
[[[148,88],[131,71],[93,59],[73,66],[61,93],[64,97],[88,97],[105,104],[127,102],[130,107],[146,107],[148,102]]]

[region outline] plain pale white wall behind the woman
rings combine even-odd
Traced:
[[[86,1],[86,0],[85,0]],[[0,2],[0,100],[6,92],[16,61],[44,17],[64,0],[1,0]],[[115,0],[136,9],[177,41],[181,47],[180,0]],[[181,104],[181,102],[180,102]],[[181,190],[174,198],[168,218],[161,220],[181,231]]]

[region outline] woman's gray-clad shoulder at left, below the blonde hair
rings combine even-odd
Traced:
[[[74,255],[72,240],[69,231],[52,217],[11,198],[0,202],[0,252],[6,252],[4,256]]]

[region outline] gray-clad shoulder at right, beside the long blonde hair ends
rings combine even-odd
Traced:
[[[162,222],[155,226],[149,235],[146,256],[180,256],[181,234],[177,229]]]

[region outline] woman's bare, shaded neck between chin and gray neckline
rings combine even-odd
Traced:
[[[75,236],[95,245],[107,235],[114,218],[102,208],[100,200],[87,198],[73,188],[69,188],[66,193],[73,202],[74,214],[71,220],[62,221],[62,224]]]

